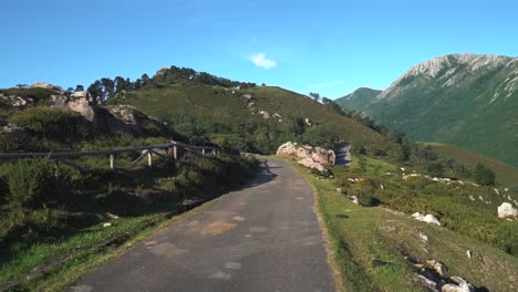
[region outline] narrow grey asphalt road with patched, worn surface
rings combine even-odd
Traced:
[[[70,291],[334,291],[314,194],[289,164],[172,223]]]

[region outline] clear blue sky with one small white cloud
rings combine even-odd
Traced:
[[[438,55],[518,55],[511,0],[8,0],[1,11],[0,87],[177,65],[335,98]]]

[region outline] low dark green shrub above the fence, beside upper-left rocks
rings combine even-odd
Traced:
[[[63,140],[89,135],[89,127],[82,117],[64,109],[33,107],[18,113],[13,122],[40,138]]]

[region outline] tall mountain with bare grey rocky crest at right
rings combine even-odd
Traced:
[[[518,59],[453,54],[418,64],[362,109],[415,140],[462,146],[518,166]]]

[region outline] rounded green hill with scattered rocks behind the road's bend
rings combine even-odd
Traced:
[[[247,152],[272,153],[287,140],[329,146],[336,139],[391,152],[383,135],[307,96],[272,86],[225,86],[160,70],[154,85],[110,103],[131,104],[188,136],[210,137]]]

